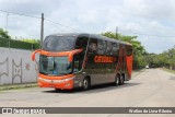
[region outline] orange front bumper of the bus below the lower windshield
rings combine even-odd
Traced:
[[[71,90],[73,89],[73,79],[74,77],[62,79],[62,80],[49,80],[49,79],[43,79],[39,77],[38,86]]]

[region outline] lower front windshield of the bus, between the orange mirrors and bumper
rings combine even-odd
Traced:
[[[47,75],[65,75],[72,71],[68,57],[48,57],[40,55],[39,72]]]

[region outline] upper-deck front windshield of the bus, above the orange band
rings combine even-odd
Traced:
[[[68,51],[74,48],[75,37],[48,36],[44,40],[43,49],[48,51]]]

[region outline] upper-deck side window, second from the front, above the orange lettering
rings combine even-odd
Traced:
[[[106,42],[98,39],[97,40],[97,54],[105,55],[105,50],[106,50]]]

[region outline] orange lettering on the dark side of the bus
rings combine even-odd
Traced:
[[[95,63],[113,63],[113,62],[116,62],[116,58],[108,57],[108,56],[95,56],[94,62]]]

